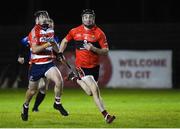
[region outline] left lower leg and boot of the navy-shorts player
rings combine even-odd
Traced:
[[[38,82],[39,81],[29,81],[28,90],[26,91],[25,95],[25,102],[23,104],[21,112],[21,118],[24,121],[28,120],[29,103],[32,97],[36,94]]]

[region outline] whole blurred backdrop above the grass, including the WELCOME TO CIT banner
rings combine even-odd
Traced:
[[[61,40],[81,24],[86,8],[94,9],[111,50],[102,60],[102,86],[180,88],[180,9],[173,0],[6,0],[0,6],[1,88],[27,88],[27,68],[17,57],[21,39],[34,26],[35,11],[49,12]]]

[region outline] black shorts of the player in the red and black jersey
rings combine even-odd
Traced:
[[[94,67],[94,68],[83,68],[83,67],[81,67],[84,74],[85,75],[92,75],[96,82],[98,81],[98,78],[99,78],[99,68],[100,68],[99,65]]]

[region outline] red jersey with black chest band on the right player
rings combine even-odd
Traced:
[[[74,40],[76,46],[75,64],[77,67],[93,68],[99,65],[99,55],[86,50],[83,46],[85,41],[97,48],[108,48],[106,36],[97,26],[86,30],[83,25],[80,25],[71,29],[65,38],[68,42]]]

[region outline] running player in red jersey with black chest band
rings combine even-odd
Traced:
[[[95,25],[95,13],[91,9],[82,12],[82,25],[69,31],[61,41],[60,53],[63,53],[67,43],[74,41],[76,46],[75,65],[79,74],[79,79],[71,73],[68,77],[75,80],[93,99],[104,116],[107,123],[111,123],[115,116],[108,114],[104,108],[97,85],[99,76],[99,55],[107,55],[109,48],[104,32]]]

